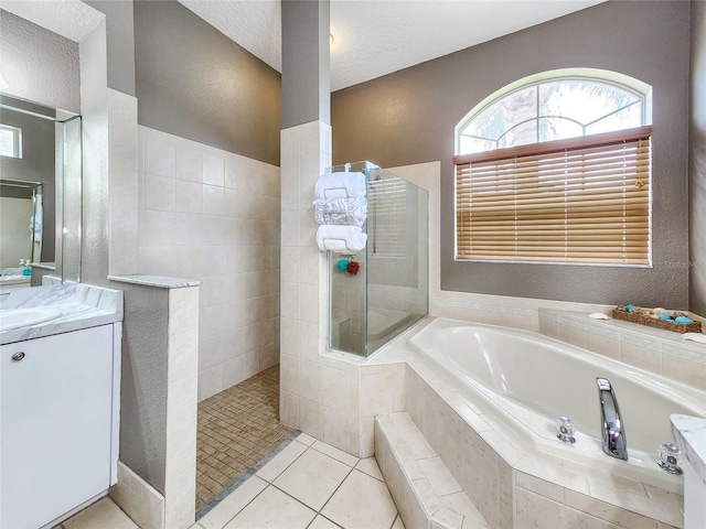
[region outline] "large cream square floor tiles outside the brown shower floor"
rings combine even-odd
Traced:
[[[103,498],[65,529],[139,529]],[[301,433],[191,529],[405,529],[374,457]]]

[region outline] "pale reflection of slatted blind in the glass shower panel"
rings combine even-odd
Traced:
[[[407,184],[392,176],[370,182],[368,248],[375,257],[407,257]]]

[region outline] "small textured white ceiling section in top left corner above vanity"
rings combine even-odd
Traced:
[[[0,8],[74,42],[83,41],[105,18],[79,0],[2,0]]]

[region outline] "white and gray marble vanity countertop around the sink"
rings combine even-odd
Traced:
[[[61,316],[0,331],[0,344],[40,338],[122,321],[122,291],[82,283],[17,289],[0,296],[0,310],[55,309]]]

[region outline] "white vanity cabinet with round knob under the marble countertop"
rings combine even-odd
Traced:
[[[121,324],[0,346],[0,527],[36,529],[116,482]]]

